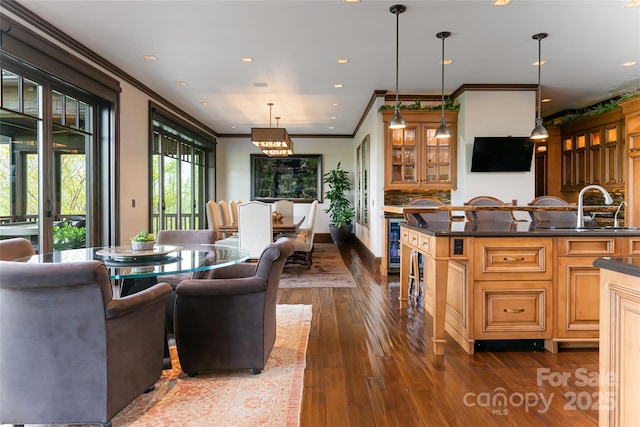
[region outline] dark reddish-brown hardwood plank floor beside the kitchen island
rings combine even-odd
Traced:
[[[597,426],[597,350],[469,355],[448,338],[435,356],[431,316],[400,308],[398,276],[340,251],[357,288],[279,290],[313,305],[302,427]]]

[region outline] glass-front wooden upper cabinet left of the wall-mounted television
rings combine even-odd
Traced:
[[[389,129],[393,111],[383,111],[385,189],[450,189],[456,187],[457,111],[445,112],[451,137],[438,139],[439,111],[402,111],[404,129]]]

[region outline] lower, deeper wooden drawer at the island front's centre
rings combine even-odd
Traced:
[[[477,339],[551,338],[551,281],[486,282],[475,289]]]

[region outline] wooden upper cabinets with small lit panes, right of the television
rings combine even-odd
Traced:
[[[562,190],[624,188],[624,118],[616,109],[561,126]]]

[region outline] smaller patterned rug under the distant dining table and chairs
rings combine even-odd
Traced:
[[[355,288],[353,276],[342,262],[333,243],[315,243],[311,268],[286,265],[280,278],[281,288]]]

